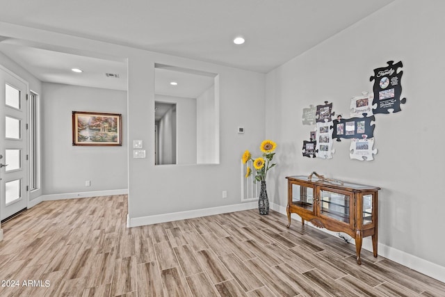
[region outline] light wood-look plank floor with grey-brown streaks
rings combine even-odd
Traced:
[[[444,283],[366,250],[358,266],[355,246],[287,229],[275,211],[126,218],[115,195],[42,202],[2,224],[0,281],[19,283],[0,296],[445,296]]]

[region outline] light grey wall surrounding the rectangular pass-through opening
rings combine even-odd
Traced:
[[[129,159],[129,218],[218,207],[241,202],[239,166],[248,147],[264,138],[265,74],[203,63],[148,51],[131,51],[129,56],[129,140],[143,139],[154,147],[154,70],[147,65],[161,63],[219,74],[220,163],[154,166],[154,156]],[[147,98],[146,94],[149,94]],[[179,111],[178,111],[179,115]],[[246,133],[237,134],[245,125]],[[147,127],[147,129],[131,129]],[[179,127],[178,127],[179,128]],[[178,131],[179,134],[179,131]],[[222,198],[227,191],[227,198]]]

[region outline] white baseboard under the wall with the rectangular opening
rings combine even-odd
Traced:
[[[171,222],[173,220],[185,220],[187,218],[199,218],[200,216],[213,216],[215,214],[225,214],[227,212],[242,211],[258,207],[258,202],[248,202],[222,207],[210,207],[206,209],[193,209],[189,211],[179,211],[170,214],[156,214],[154,216],[140,216],[130,218],[127,216],[127,227],[137,227],[152,225],[157,223]]]

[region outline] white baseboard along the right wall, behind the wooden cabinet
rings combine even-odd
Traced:
[[[278,212],[280,212],[280,214],[284,214],[287,216],[286,207],[282,207],[281,205],[271,202],[270,209],[278,211]],[[294,214],[294,216],[291,216],[291,218],[293,220],[298,220],[301,222],[300,216],[298,216],[296,214]],[[314,225],[312,225],[309,222],[305,222],[305,224],[315,227]],[[316,227],[316,229],[338,237],[337,234],[339,232],[332,232],[325,228],[320,229],[318,227]],[[355,244],[354,239],[351,239],[350,243]],[[373,251],[373,243],[372,243],[371,239],[369,239],[369,237],[366,237],[363,239],[362,248],[364,250],[369,250],[371,252]],[[390,259],[391,261],[397,262],[398,264],[402,264],[403,266],[407,266],[415,271],[419,271],[420,273],[428,275],[430,278],[435,278],[436,280],[445,282],[445,267],[444,266],[440,266],[435,263],[429,262],[425,259],[421,259],[414,255],[410,255],[407,252],[397,250],[396,248],[391,248],[390,246],[386,246],[385,244],[382,244],[382,243],[378,243],[377,248],[378,248],[378,255],[385,257],[387,259]]]

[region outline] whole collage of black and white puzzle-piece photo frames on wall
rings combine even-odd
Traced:
[[[374,81],[373,92],[363,92],[362,95],[350,99],[349,118],[341,114],[334,118],[332,103],[327,101],[321,105],[310,105],[302,111],[303,125],[316,125],[310,131],[309,141],[303,141],[302,154],[309,158],[331,159],[335,150],[332,148],[333,139],[350,139],[350,159],[372,161],[377,154],[374,145],[375,115],[390,114],[401,111],[401,79],[403,67],[401,61],[394,64],[388,61],[386,67],[376,68],[369,81]]]

